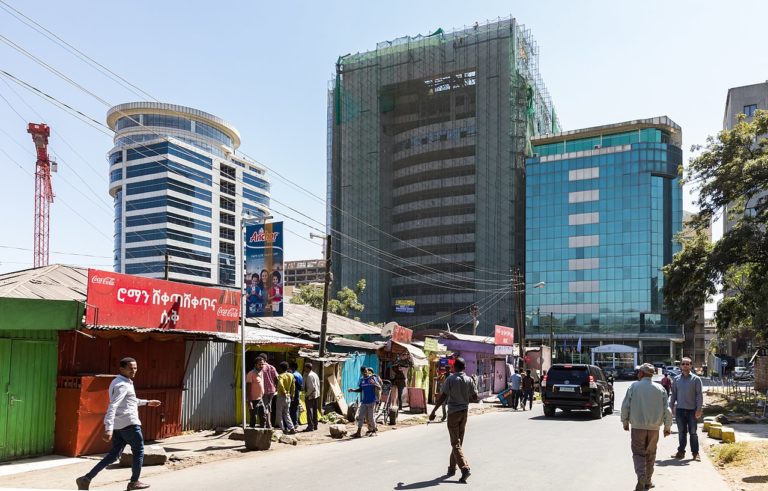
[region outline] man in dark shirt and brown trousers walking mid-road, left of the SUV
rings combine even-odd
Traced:
[[[451,439],[451,458],[448,463],[448,476],[456,475],[456,467],[461,470],[460,483],[466,484],[471,472],[469,461],[461,449],[464,443],[464,429],[469,415],[469,403],[477,402],[477,387],[474,380],[464,373],[466,366],[464,358],[456,357],[453,362],[453,373],[445,379],[440,396],[432,408],[429,420],[435,420],[435,412],[441,404],[448,403],[448,435]]]

